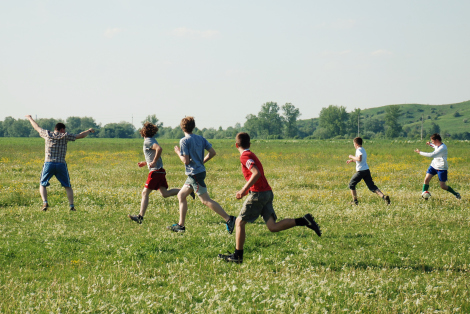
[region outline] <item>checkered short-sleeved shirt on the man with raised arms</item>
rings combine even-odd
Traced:
[[[39,135],[46,140],[45,162],[61,162],[65,163],[65,155],[67,154],[67,142],[75,141],[76,135],[70,133],[60,133],[59,131],[48,131],[42,129]]]

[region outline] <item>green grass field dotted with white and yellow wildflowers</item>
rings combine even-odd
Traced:
[[[161,141],[170,187],[184,167]],[[207,164],[209,193],[229,214],[244,184],[233,141],[214,140]],[[423,142],[366,141],[375,183],[386,206],[364,183],[351,207],[347,165],[352,141],[253,141],[275,195],[277,215],[312,213],[323,236],[296,227],[270,233],[262,219],[247,226],[244,263],[220,217],[189,200],[186,233],[178,201],[150,197],[144,223],[137,214],[146,169],[142,140],[82,139],[69,144],[75,192],[70,212],[53,178],[50,209],[38,192],[44,159],[40,138],[0,138],[0,312],[2,313],[469,313],[470,143],[448,141],[449,185],[458,201],[431,181],[420,198],[430,159]]]

